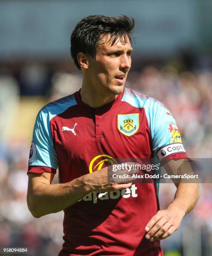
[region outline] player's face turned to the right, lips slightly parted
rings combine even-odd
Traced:
[[[95,90],[103,94],[122,93],[131,67],[132,46],[118,39],[115,44],[103,36],[97,46],[96,58],[88,56],[87,74]]]

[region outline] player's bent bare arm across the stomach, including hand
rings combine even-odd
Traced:
[[[51,184],[53,177],[47,172],[29,174],[27,205],[35,218],[70,207],[92,191],[113,191],[132,185],[129,180],[126,184],[108,184],[107,167],[64,184]]]

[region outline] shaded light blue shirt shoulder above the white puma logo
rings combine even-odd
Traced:
[[[37,118],[48,119],[50,121],[56,115],[63,113],[74,105],[77,105],[75,93],[48,103],[39,111]]]

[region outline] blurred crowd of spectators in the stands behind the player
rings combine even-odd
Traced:
[[[23,97],[32,99],[39,95],[50,102],[79,90],[80,86],[80,73],[37,63],[27,64],[19,72],[2,69],[0,73],[0,247],[29,247],[31,256],[57,255],[62,247],[63,212],[35,219],[27,209],[30,141],[15,136],[14,120],[19,120],[17,113]],[[191,158],[212,158],[212,69],[179,72],[174,64],[146,65],[132,69],[125,86],[166,105],[177,120]],[[30,103],[27,108],[31,108]],[[25,133],[32,134],[29,129],[25,127]],[[55,175],[54,182],[57,180]],[[162,209],[174,194],[174,184],[160,184]],[[201,198],[195,209],[179,230],[162,241],[165,255],[212,255],[211,216],[212,186],[201,184]]]

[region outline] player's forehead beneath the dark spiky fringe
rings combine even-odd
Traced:
[[[98,42],[97,52],[112,51],[112,50],[124,50],[124,49],[132,50],[132,46],[130,44],[130,39],[128,36],[126,36],[126,38],[119,37],[119,38],[117,38],[117,40],[115,41],[115,43],[113,45],[112,45],[112,43],[113,43],[113,38],[111,38],[110,35],[101,36],[100,40]]]

